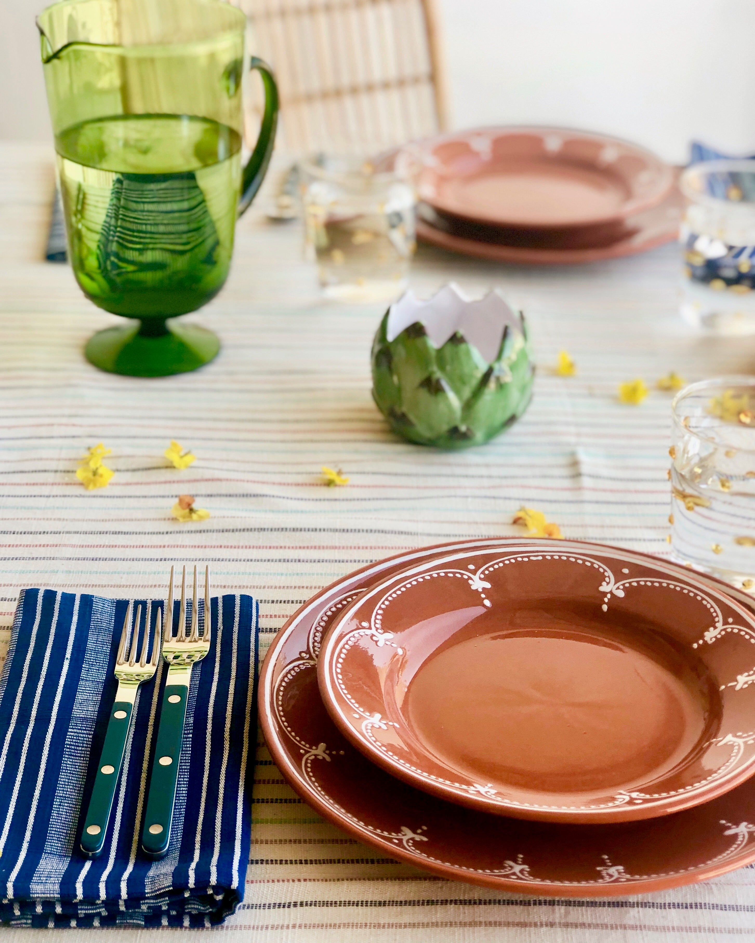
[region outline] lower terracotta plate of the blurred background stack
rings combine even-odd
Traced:
[[[574,230],[504,229],[454,219],[428,204],[417,208],[417,236],[464,256],[525,265],[580,265],[635,256],[679,236],[685,201],[674,187],[662,203],[618,224]]]

